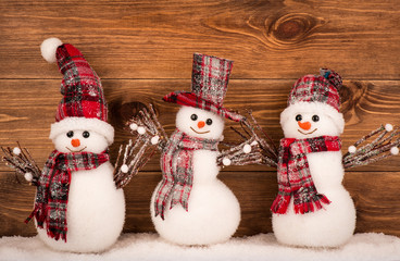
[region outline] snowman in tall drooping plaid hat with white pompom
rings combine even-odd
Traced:
[[[55,150],[35,181],[34,211],[39,237],[51,248],[99,252],[120,236],[125,199],[115,187],[108,147],[114,128],[107,123],[108,107],[100,78],[78,49],[49,38],[42,57],[58,62],[64,79],[50,139]],[[32,182],[32,175],[25,175]]]

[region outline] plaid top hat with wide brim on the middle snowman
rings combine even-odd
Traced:
[[[236,122],[243,120],[243,116],[223,107],[233,64],[226,59],[195,53],[191,91],[173,91],[163,100],[200,108]]]

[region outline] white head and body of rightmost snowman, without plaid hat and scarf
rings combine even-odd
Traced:
[[[318,102],[290,105],[280,115],[285,137],[339,136],[343,124],[333,121],[325,109]],[[297,121],[300,119],[298,115],[301,115],[300,121]],[[305,125],[307,129],[301,128]],[[285,214],[272,215],[275,237],[279,243],[291,246],[341,246],[351,238],[355,228],[354,203],[342,186],[342,154],[340,151],[311,152],[307,159],[317,192],[325,195],[330,203],[314,212],[300,214],[295,212],[291,198]]]

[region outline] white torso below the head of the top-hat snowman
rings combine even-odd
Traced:
[[[151,198],[151,217],[157,232],[165,239],[179,245],[210,245],[229,239],[240,222],[240,207],[235,195],[216,176],[216,151],[193,152],[193,184],[188,211],[180,204],[165,208],[165,219],[154,215]],[[160,182],[159,186],[162,184]]]

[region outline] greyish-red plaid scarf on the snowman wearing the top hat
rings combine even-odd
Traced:
[[[195,150],[217,150],[217,140],[189,137],[176,129],[161,157],[163,181],[160,185],[155,201],[155,216],[164,220],[164,210],[167,200],[172,209],[180,203],[188,211],[188,200],[193,182],[193,152]]]

